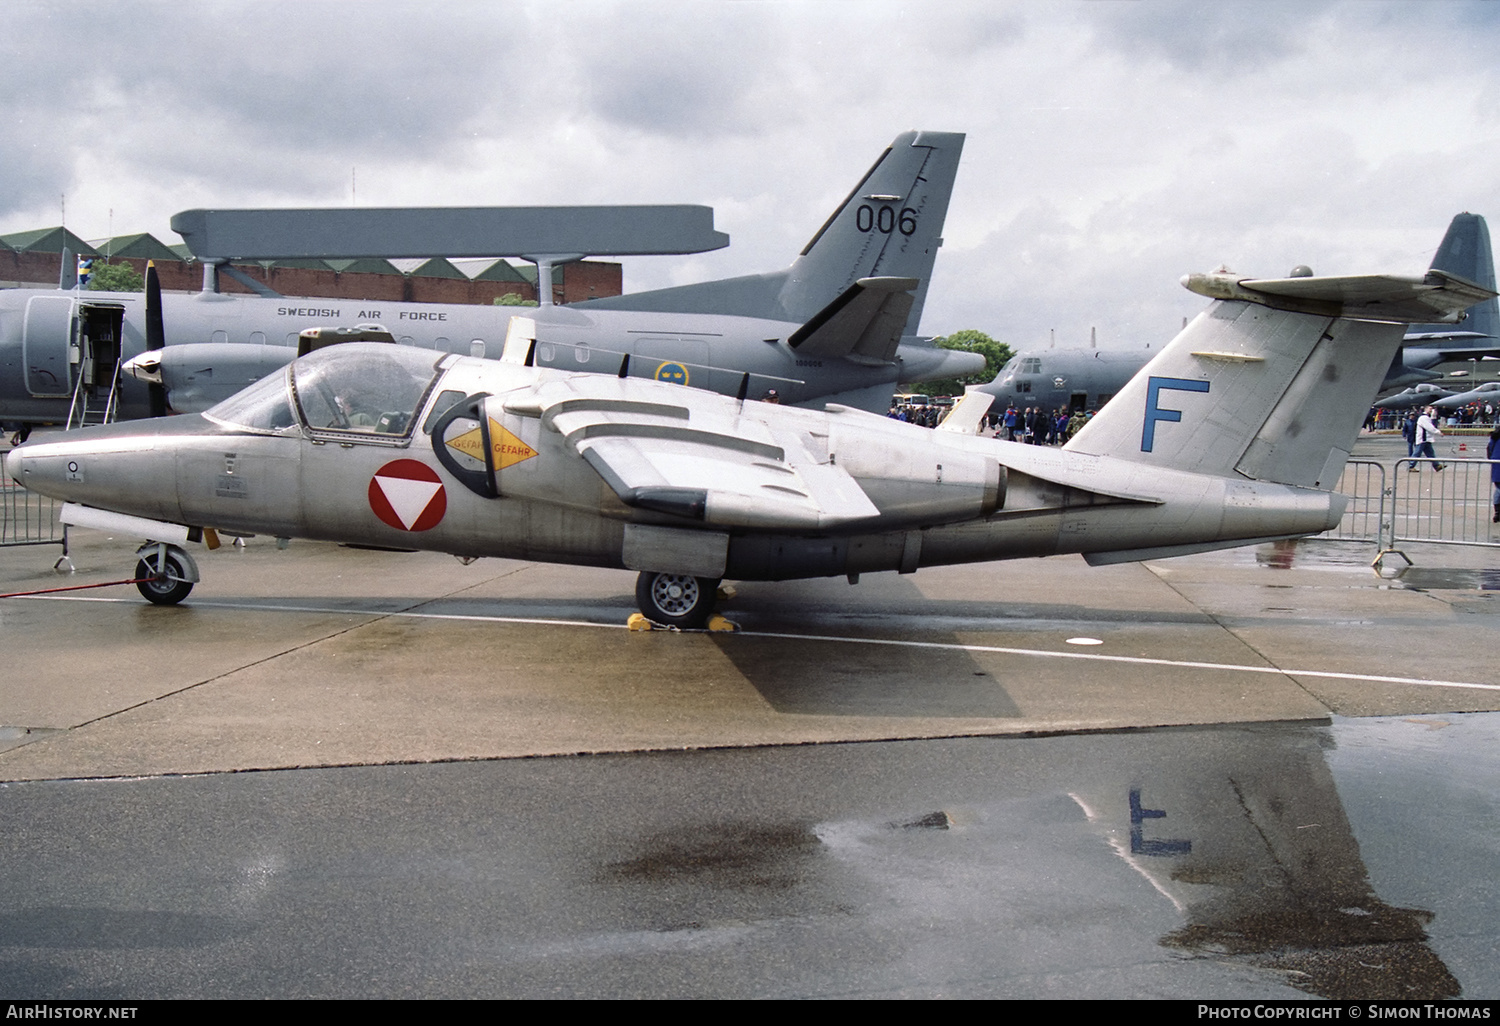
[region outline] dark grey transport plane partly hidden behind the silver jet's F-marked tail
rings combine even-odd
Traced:
[[[1448,225],[1432,270],[1496,288],[1490,228],[1479,214],[1456,214]],[[1462,330],[1442,322],[1413,326],[1390,362],[1380,392],[1438,376],[1440,363],[1500,356],[1500,306],[1486,302],[1470,310]],[[1160,346],[1158,346],[1160,348]],[[1150,346],[1132,350],[1083,348],[1024,350],[1000,368],[978,392],[998,405],[1044,410],[1098,410],[1155,356]],[[1414,402],[1414,400],[1413,400]],[[1400,404],[1396,404],[1400,405]]]

